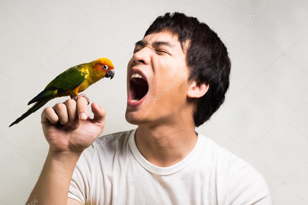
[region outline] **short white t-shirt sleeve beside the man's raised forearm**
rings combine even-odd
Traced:
[[[79,161],[76,163],[70,187],[68,190],[69,198],[75,199],[83,204],[86,204],[86,193],[88,190],[88,176],[89,170],[87,169],[86,163],[81,163],[83,158],[83,154],[80,156]]]

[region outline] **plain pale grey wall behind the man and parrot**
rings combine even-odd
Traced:
[[[107,109],[103,134],[136,128],[124,116],[127,63],[150,23],[172,11],[206,22],[232,60],[226,101],[197,131],[236,155],[250,149],[242,158],[265,177],[274,204],[308,204],[307,1],[0,0],[0,205],[26,201],[48,151],[43,108],[8,125],[65,69],[110,58],[115,78],[86,93]]]

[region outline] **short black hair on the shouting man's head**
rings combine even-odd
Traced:
[[[176,35],[183,51],[186,51],[188,82],[209,84],[209,90],[199,98],[193,110],[195,126],[199,127],[209,120],[225,101],[231,72],[227,48],[208,25],[179,12],[157,17],[144,36],[165,30]],[[188,44],[185,44],[185,47],[186,42]]]

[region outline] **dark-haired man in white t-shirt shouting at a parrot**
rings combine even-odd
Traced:
[[[195,131],[223,103],[230,67],[205,23],[158,17],[128,62],[125,117],[138,128],[98,137],[106,111],[92,103],[90,119],[83,97],[46,108],[50,149],[28,203],[272,204],[259,172],[228,166],[236,156]]]

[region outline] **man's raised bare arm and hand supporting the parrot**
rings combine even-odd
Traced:
[[[77,102],[67,100],[44,109],[42,126],[49,152],[26,204],[82,204],[67,196],[81,153],[103,132],[106,110],[95,103],[91,104],[91,109],[93,119],[89,117],[84,97],[78,98]]]

